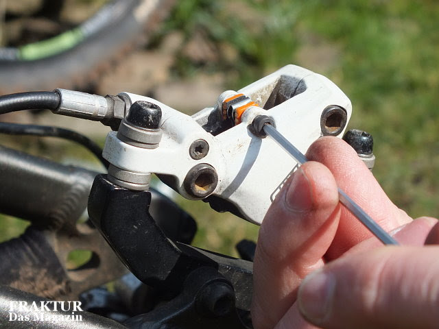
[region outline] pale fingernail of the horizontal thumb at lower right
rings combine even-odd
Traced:
[[[331,311],[335,291],[335,278],[331,273],[319,270],[302,281],[298,291],[298,306],[302,315],[318,323]]]

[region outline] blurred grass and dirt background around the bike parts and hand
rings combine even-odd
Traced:
[[[11,11],[16,16],[1,23],[3,46],[29,42],[32,29],[47,34],[59,29],[38,19],[38,2],[0,0],[0,16]],[[65,1],[62,24],[78,24],[104,2]],[[176,1],[148,42],[112,63],[84,90],[148,95],[193,114],[213,106],[224,90],[246,86],[286,64],[303,66],[329,77],[351,99],[348,129],[372,134],[373,172],[394,203],[412,217],[438,217],[438,18],[436,1]],[[67,126],[101,145],[108,132],[99,124],[50,113],[1,119]],[[102,171],[93,156],[71,143],[0,138],[3,145]],[[250,223],[217,214],[203,202],[176,200],[198,221],[195,245],[236,256],[237,241],[257,239],[258,228]],[[2,217],[1,240],[26,225]]]

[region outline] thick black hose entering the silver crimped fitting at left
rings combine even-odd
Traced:
[[[55,91],[33,91],[0,96],[0,114],[21,110],[56,110],[60,95]]]

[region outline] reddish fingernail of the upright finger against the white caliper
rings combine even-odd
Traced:
[[[297,169],[293,175],[285,196],[285,203],[288,208],[298,211],[310,210],[313,205],[311,184],[302,168]]]

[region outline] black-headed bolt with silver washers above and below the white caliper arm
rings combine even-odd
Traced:
[[[163,135],[161,118],[160,106],[149,101],[136,101],[122,120],[117,138],[135,147],[155,149]],[[108,180],[129,190],[147,191],[150,188],[151,173],[135,173],[110,164]]]

